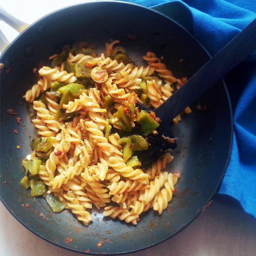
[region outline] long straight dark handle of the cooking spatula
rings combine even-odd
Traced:
[[[169,123],[198,96],[209,89],[256,49],[256,19],[234,37],[199,69],[180,89],[168,98],[155,114]],[[168,113],[168,114],[166,114]]]

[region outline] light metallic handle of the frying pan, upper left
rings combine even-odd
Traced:
[[[15,18],[13,15],[8,13],[3,7],[0,7],[0,20],[6,22],[9,26],[13,27],[17,32],[21,33],[25,30],[29,24]],[[0,52],[2,53],[5,48],[9,45],[9,41],[6,36],[0,30]]]

